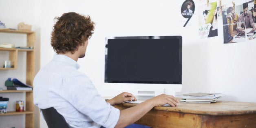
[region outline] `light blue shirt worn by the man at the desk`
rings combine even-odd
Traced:
[[[34,104],[54,107],[74,128],[114,128],[119,109],[98,94],[91,80],[77,71],[79,64],[65,55],[54,55],[33,81]]]

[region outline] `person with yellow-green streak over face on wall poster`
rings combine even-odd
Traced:
[[[209,3],[209,6],[207,6],[205,11],[203,11],[205,24],[210,23],[212,25],[209,30],[208,38],[218,36],[218,16],[216,7],[217,2],[212,2]]]

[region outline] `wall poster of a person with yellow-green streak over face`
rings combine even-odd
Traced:
[[[217,2],[203,4],[199,9],[200,38],[218,36]]]

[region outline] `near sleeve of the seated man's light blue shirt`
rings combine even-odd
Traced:
[[[73,78],[75,79],[66,79],[66,82],[63,82],[72,85],[68,88],[72,90],[69,91],[69,102],[95,123],[106,128],[114,128],[119,120],[119,109],[106,103],[88,77],[78,75]]]

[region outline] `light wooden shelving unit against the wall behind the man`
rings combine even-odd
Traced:
[[[0,29],[0,33],[17,33],[26,34],[26,46],[35,47],[35,32],[23,31],[23,30],[10,30]],[[15,35],[13,35],[15,38]],[[0,48],[0,51],[9,52],[9,60],[13,63],[13,68],[2,68],[1,70],[14,70],[17,68],[26,68],[26,84],[33,86],[33,79],[35,77],[35,50],[34,49],[4,49]],[[18,53],[26,52],[26,67],[18,67]],[[0,116],[9,115],[25,115],[25,128],[34,128],[34,104],[33,104],[33,90],[0,90],[0,93],[26,93],[26,100],[24,104],[26,111],[24,112],[7,112],[0,114]]]

